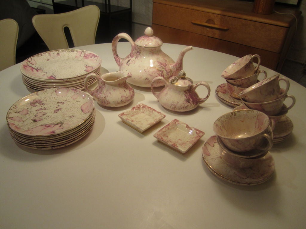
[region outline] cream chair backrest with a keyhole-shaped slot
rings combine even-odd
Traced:
[[[33,25],[50,50],[68,49],[64,28],[68,27],[74,46],[95,44],[100,9],[96,5],[84,6],[67,13],[38,14]]]

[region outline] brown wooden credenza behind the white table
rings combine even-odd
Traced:
[[[280,71],[301,12],[252,12],[239,0],[153,0],[152,28],[165,43],[193,45],[233,56],[258,54],[261,65]],[[294,15],[294,16],[293,16]]]

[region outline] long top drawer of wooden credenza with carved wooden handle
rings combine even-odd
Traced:
[[[153,23],[275,53],[282,52],[289,29],[159,3],[153,3]]]

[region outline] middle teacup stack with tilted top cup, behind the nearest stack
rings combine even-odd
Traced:
[[[285,82],[285,88],[280,87],[280,81]],[[245,108],[261,111],[268,115],[273,130],[277,122],[295,104],[295,97],[287,94],[289,85],[287,78],[280,78],[279,74],[277,74],[244,89],[238,96],[241,98]],[[288,107],[284,104],[287,98],[292,100],[291,105]]]

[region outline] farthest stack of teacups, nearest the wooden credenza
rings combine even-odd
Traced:
[[[254,58],[258,60],[256,67],[253,64]],[[238,94],[244,89],[256,84],[260,73],[264,74],[263,79],[267,78],[266,71],[260,70],[259,66],[260,56],[257,54],[249,54],[236,60],[222,72],[221,76],[226,79],[230,96],[240,100]]]

